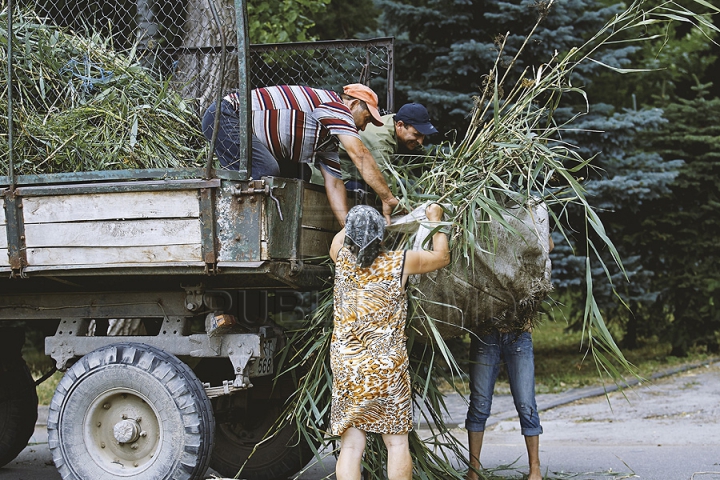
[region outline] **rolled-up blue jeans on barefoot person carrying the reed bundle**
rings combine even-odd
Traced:
[[[535,358],[532,336],[523,332],[492,333],[473,336],[470,343],[470,407],[465,428],[470,432],[485,431],[490,416],[495,380],[505,362],[510,379],[515,409],[520,417],[522,434],[540,435],[540,417],[535,403]]]

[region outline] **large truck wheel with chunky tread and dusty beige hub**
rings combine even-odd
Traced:
[[[99,348],[63,376],[48,444],[65,480],[199,479],[215,420],[190,368],[136,343]]]

